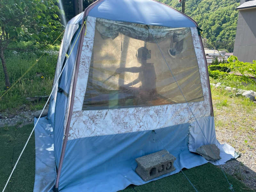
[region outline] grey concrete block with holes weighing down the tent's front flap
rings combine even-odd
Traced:
[[[161,150],[135,159],[138,166],[136,173],[148,181],[175,170],[173,162],[176,157],[167,150]]]

